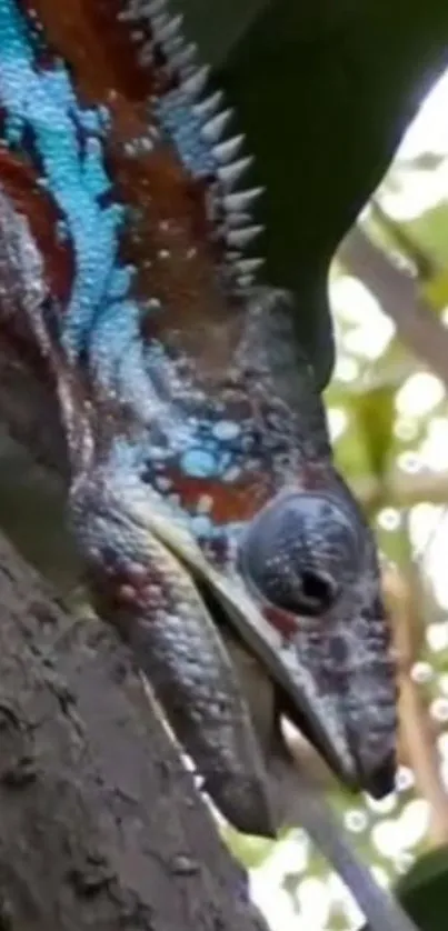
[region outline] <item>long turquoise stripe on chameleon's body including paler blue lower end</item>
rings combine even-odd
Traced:
[[[0,0],[0,61],[7,141],[20,144],[24,129],[32,130],[44,171],[42,187],[63,214],[58,230],[73,243],[74,280],[61,318],[61,342],[71,357],[88,346],[104,390],[118,392],[149,422],[160,416],[160,399],[146,371],[139,309],[128,299],[132,269],[117,264],[123,208],[99,203],[110,188],[102,152],[104,109],[78,104],[61,61],[37,70],[26,21],[13,0]]]

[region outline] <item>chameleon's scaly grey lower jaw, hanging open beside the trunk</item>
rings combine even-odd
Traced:
[[[129,489],[82,477],[71,522],[99,614],[129,643],[202,789],[237,830],[275,837],[269,780],[237,673],[185,565],[135,519]]]

